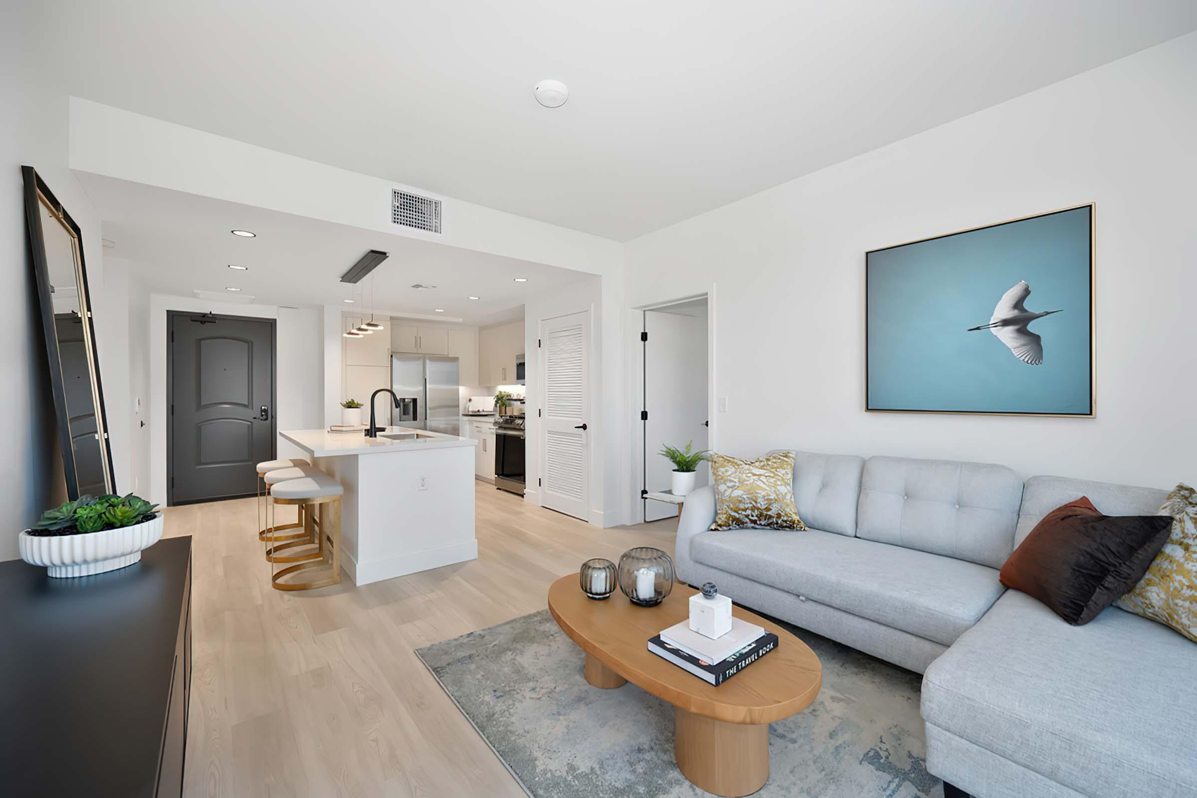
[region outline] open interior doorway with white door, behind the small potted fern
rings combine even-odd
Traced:
[[[707,298],[698,297],[642,311],[643,461],[640,497],[646,522],[678,516],[678,506],[644,499],[669,491],[673,463],[660,455],[666,445],[694,450],[710,439]],[[698,467],[694,487],[710,482],[710,468]]]

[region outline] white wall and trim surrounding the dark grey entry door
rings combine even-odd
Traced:
[[[275,418],[278,430],[318,428],[324,392],[324,372],[321,364],[321,331],[324,327],[321,309],[279,307],[214,303],[192,297],[150,296],[146,335],[148,347],[150,388],[150,501],[166,504],[166,312],[213,312],[218,316],[251,316],[278,319],[275,339]],[[340,336],[338,336],[339,339]],[[338,357],[338,361],[340,358]],[[278,441],[279,457],[298,457],[300,452],[285,441]]]

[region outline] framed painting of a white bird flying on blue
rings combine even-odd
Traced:
[[[1094,206],[865,254],[865,409],[1093,418]]]

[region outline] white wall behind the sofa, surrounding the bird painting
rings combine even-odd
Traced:
[[[718,286],[719,447],[1197,479],[1197,33],[627,244],[630,306]],[[801,146],[801,142],[795,146]],[[1096,419],[864,413],[864,252],[1096,202]]]

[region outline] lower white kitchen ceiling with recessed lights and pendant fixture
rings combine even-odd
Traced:
[[[371,273],[379,315],[460,318],[486,325],[523,318],[524,298],[534,292],[595,279],[542,263],[98,175],[79,172],[78,177],[99,209],[104,238],[114,243],[104,257],[129,260],[154,293],[211,291],[230,301],[254,297],[266,305],[341,303],[344,310],[369,310],[371,278],[358,284],[366,296],[358,296],[351,305],[342,303],[352,294],[340,276],[367,250],[377,249],[390,255]],[[249,230],[257,237],[239,238],[230,230]],[[230,263],[249,268],[235,270]],[[515,282],[517,276],[528,282]],[[411,287],[417,282],[437,288],[417,291]],[[226,292],[227,287],[242,291]],[[437,307],[444,313],[437,313]]]

